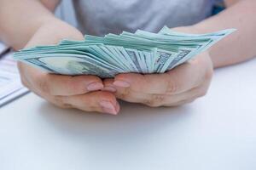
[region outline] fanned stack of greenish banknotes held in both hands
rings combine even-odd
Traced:
[[[123,31],[84,41],[63,39],[57,45],[22,49],[14,58],[62,75],[114,77],[119,73],[163,73],[192,59],[235,29],[186,34],[164,26],[158,33]]]

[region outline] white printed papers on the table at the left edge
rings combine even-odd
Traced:
[[[0,42],[0,107],[28,92],[20,82],[16,62],[12,53],[3,54],[7,49]]]

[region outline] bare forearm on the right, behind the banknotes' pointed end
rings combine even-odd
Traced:
[[[209,53],[214,67],[232,65],[256,56],[256,1],[244,0],[192,26],[200,33],[236,28],[214,45]]]

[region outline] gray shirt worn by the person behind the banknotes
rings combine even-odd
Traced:
[[[159,31],[189,26],[212,14],[214,0],[74,0],[79,29],[102,36],[109,32]]]

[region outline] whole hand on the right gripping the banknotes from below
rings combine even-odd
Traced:
[[[104,89],[119,99],[152,107],[183,105],[207,94],[212,71],[212,60],[204,52],[163,74],[119,74],[106,79]]]

